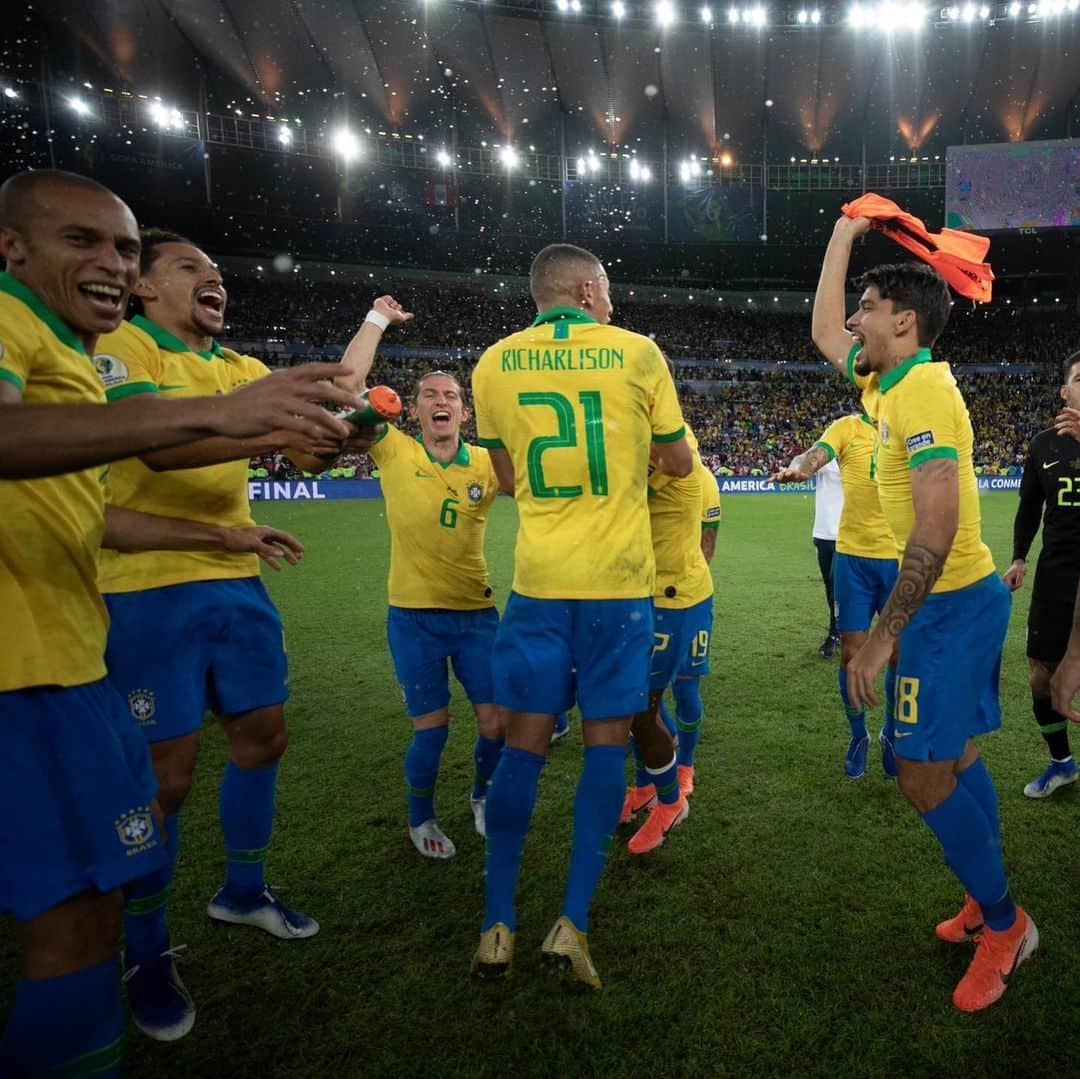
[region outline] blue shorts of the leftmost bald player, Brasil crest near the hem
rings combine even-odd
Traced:
[[[0,693],[0,912],[26,921],[165,861],[146,739],[103,678]]]

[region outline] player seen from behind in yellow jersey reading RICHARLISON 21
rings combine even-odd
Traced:
[[[631,719],[648,701],[650,449],[674,476],[689,475],[693,457],[663,354],[608,324],[596,257],[545,247],[530,289],[534,324],[484,352],[473,373],[478,441],[519,517],[513,591],[496,635],[507,747],[488,788],[487,905],[473,972],[510,971],[525,834],[555,714],[576,688],[584,767],[563,913],[542,952],[570,980],[598,987],[589,906],[619,821]]]

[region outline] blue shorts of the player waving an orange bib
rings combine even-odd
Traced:
[[[997,574],[923,601],[900,635],[899,756],[958,760],[969,738],[1001,726],[998,678],[1011,605]]]

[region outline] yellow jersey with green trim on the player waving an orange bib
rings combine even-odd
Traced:
[[[948,457],[959,468],[960,522],[934,592],[954,592],[994,572],[994,558],[980,534],[978,487],[972,464],[968,406],[946,363],[934,363],[920,349],[899,367],[877,377],[881,394],[878,415],[878,496],[903,554],[915,521],[912,469],[935,457]]]

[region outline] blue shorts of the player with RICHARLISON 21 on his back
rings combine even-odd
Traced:
[[[585,719],[648,709],[652,601],[536,599],[510,593],[495,642],[495,700]]]

